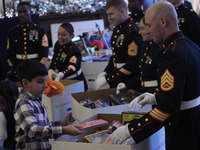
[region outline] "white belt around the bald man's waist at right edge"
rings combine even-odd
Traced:
[[[190,108],[198,106],[199,104],[200,104],[200,96],[190,101],[183,101],[181,103],[180,110],[190,109]]]

